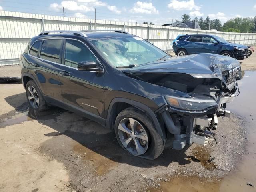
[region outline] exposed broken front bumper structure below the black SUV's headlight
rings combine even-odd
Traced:
[[[230,116],[230,111],[225,110],[225,107],[227,102],[234,100],[234,97],[234,94],[221,96],[218,99],[218,107],[202,112],[187,112],[176,110],[169,105],[164,106],[159,113],[167,130],[174,135],[173,148],[181,150],[186,144],[191,145],[193,142],[201,145],[208,144],[208,136],[204,131],[215,130],[218,125],[218,117]]]

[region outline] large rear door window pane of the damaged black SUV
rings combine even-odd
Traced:
[[[60,63],[60,48],[62,39],[44,40],[40,52],[40,58]]]

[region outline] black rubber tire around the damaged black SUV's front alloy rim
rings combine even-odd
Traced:
[[[134,107],[126,108],[125,110],[120,112],[118,114],[118,116],[116,117],[114,129],[115,129],[117,141],[120,144],[120,146],[125,151],[129,152],[123,146],[123,144],[119,138],[119,134],[118,134],[119,123],[122,120],[124,120],[125,118],[133,118],[133,119],[137,120],[143,126],[143,128],[146,130],[146,133],[148,135],[148,148],[147,148],[146,152],[142,155],[135,155],[135,156],[149,159],[149,160],[158,158],[158,156],[160,156],[164,150],[164,142],[163,142],[161,136],[158,134],[158,132],[154,128],[154,123],[151,120],[151,118],[148,115],[146,115],[144,112],[142,112]],[[132,154],[132,153],[130,153],[130,154]],[[132,155],[134,155],[134,154],[132,154]]]

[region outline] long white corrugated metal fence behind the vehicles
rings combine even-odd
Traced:
[[[211,32],[208,30],[184,29],[108,20],[71,18],[0,11],[0,66],[19,64],[20,54],[33,36],[46,30],[125,30],[144,38],[166,52],[172,50],[172,40],[179,34],[214,34],[230,42],[256,44],[256,34]]]

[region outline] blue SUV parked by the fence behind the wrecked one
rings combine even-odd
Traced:
[[[230,43],[215,35],[181,35],[173,41],[173,49],[177,56],[198,53],[220,54],[236,59],[247,58],[248,47]]]

